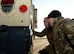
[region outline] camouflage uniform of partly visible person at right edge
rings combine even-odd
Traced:
[[[71,47],[73,48],[73,52],[74,52],[74,20],[67,19],[66,27],[70,31],[67,32],[68,33],[67,37],[70,41]]]

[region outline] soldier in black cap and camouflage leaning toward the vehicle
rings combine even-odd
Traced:
[[[43,51],[46,51],[47,54],[73,54],[70,44],[66,40],[63,31],[61,36],[59,35],[61,30],[58,29],[59,25],[55,22],[55,19],[62,19],[61,13],[58,10],[53,10],[48,15],[48,27],[44,28],[42,32],[33,31],[33,34],[38,37],[47,36],[48,42],[50,43]],[[66,35],[66,34],[65,34]],[[45,53],[45,54],[46,54]]]

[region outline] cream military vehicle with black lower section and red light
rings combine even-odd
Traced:
[[[32,0],[0,0],[0,54],[32,54]]]

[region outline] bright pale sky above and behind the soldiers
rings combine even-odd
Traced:
[[[74,0],[32,0],[37,8],[37,28],[36,31],[42,31],[44,27],[43,19],[48,16],[52,10],[59,10],[65,18],[74,18]]]

